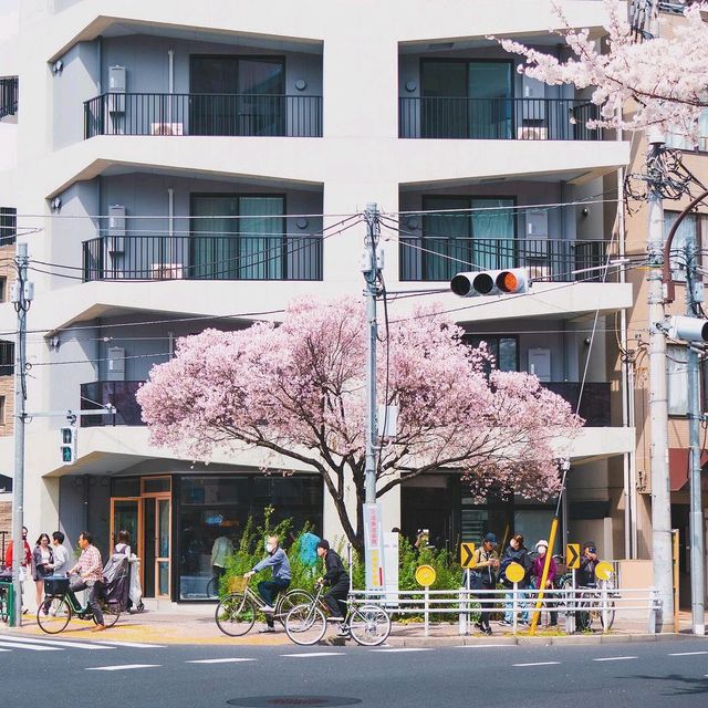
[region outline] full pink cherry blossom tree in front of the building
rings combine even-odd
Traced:
[[[295,302],[279,326],[179,340],[137,394],[152,441],[204,460],[219,449],[260,448],[271,472],[284,467],[275,457],[316,471],[361,550],[365,332],[361,303],[341,300]],[[435,312],[391,324],[377,376],[381,399],[398,406],[398,429],[382,445],[377,496],[444,468],[479,494],[548,498],[560,488],[553,441],[582,421],[537,377],[489,373],[490,355],[462,334]]]

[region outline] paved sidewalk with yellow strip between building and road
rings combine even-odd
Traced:
[[[189,606],[185,610],[175,611],[146,610],[142,613],[125,614],[121,617],[115,627],[100,634],[91,632],[93,622],[82,622],[72,620],[67,629],[61,635],[66,639],[96,639],[106,642],[137,642],[146,644],[210,644],[210,645],[280,645],[290,644],[290,639],[280,625],[275,634],[258,634],[258,628],[262,626],[257,623],[253,629],[244,637],[228,637],[222,634],[214,621],[214,605]],[[679,634],[647,634],[646,621],[632,621],[617,617],[612,632],[603,634],[595,631],[589,634],[574,634],[566,636],[560,632],[549,632],[539,627],[535,636],[530,636],[529,632],[519,632],[513,636],[509,627],[500,627],[492,622],[492,636],[479,633],[468,636],[459,635],[458,624],[435,624],[430,625],[429,636],[424,636],[423,623],[400,624],[394,623],[387,644],[397,647],[436,647],[436,646],[475,646],[475,645],[498,645],[498,644],[538,644],[538,645],[576,645],[576,644],[601,644],[601,643],[626,643],[626,642],[654,642],[654,641],[676,641],[697,639],[690,634],[690,613],[680,613]],[[37,624],[33,615],[24,615],[23,626],[20,628],[2,628],[3,634],[19,634],[41,636],[48,638]],[[334,631],[327,634],[330,637]],[[329,639],[333,644],[341,644],[342,641],[332,636]]]

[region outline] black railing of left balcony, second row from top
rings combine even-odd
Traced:
[[[83,242],[83,279],[322,280],[319,236],[125,236]]]

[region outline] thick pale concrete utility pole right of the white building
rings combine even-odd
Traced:
[[[648,305],[649,305],[649,417],[652,459],[652,561],[654,586],[662,603],[659,632],[674,632],[674,583],[671,564],[671,496],[668,475],[668,396],[666,337],[664,325],[664,204],[657,164],[664,152],[664,136],[647,132]],[[676,627],[677,628],[677,627]]]

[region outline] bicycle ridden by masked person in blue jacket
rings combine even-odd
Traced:
[[[241,637],[248,634],[256,624],[259,613],[263,614],[266,603],[249,587],[249,579],[237,575],[231,579],[230,593],[217,605],[214,618],[223,634],[230,637]],[[306,590],[291,590],[279,593],[275,601],[274,620],[285,624],[285,615],[295,606],[308,603],[312,594]]]

